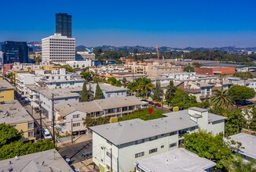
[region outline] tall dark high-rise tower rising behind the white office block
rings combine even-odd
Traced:
[[[72,16],[67,13],[56,14],[56,33],[72,38]]]

